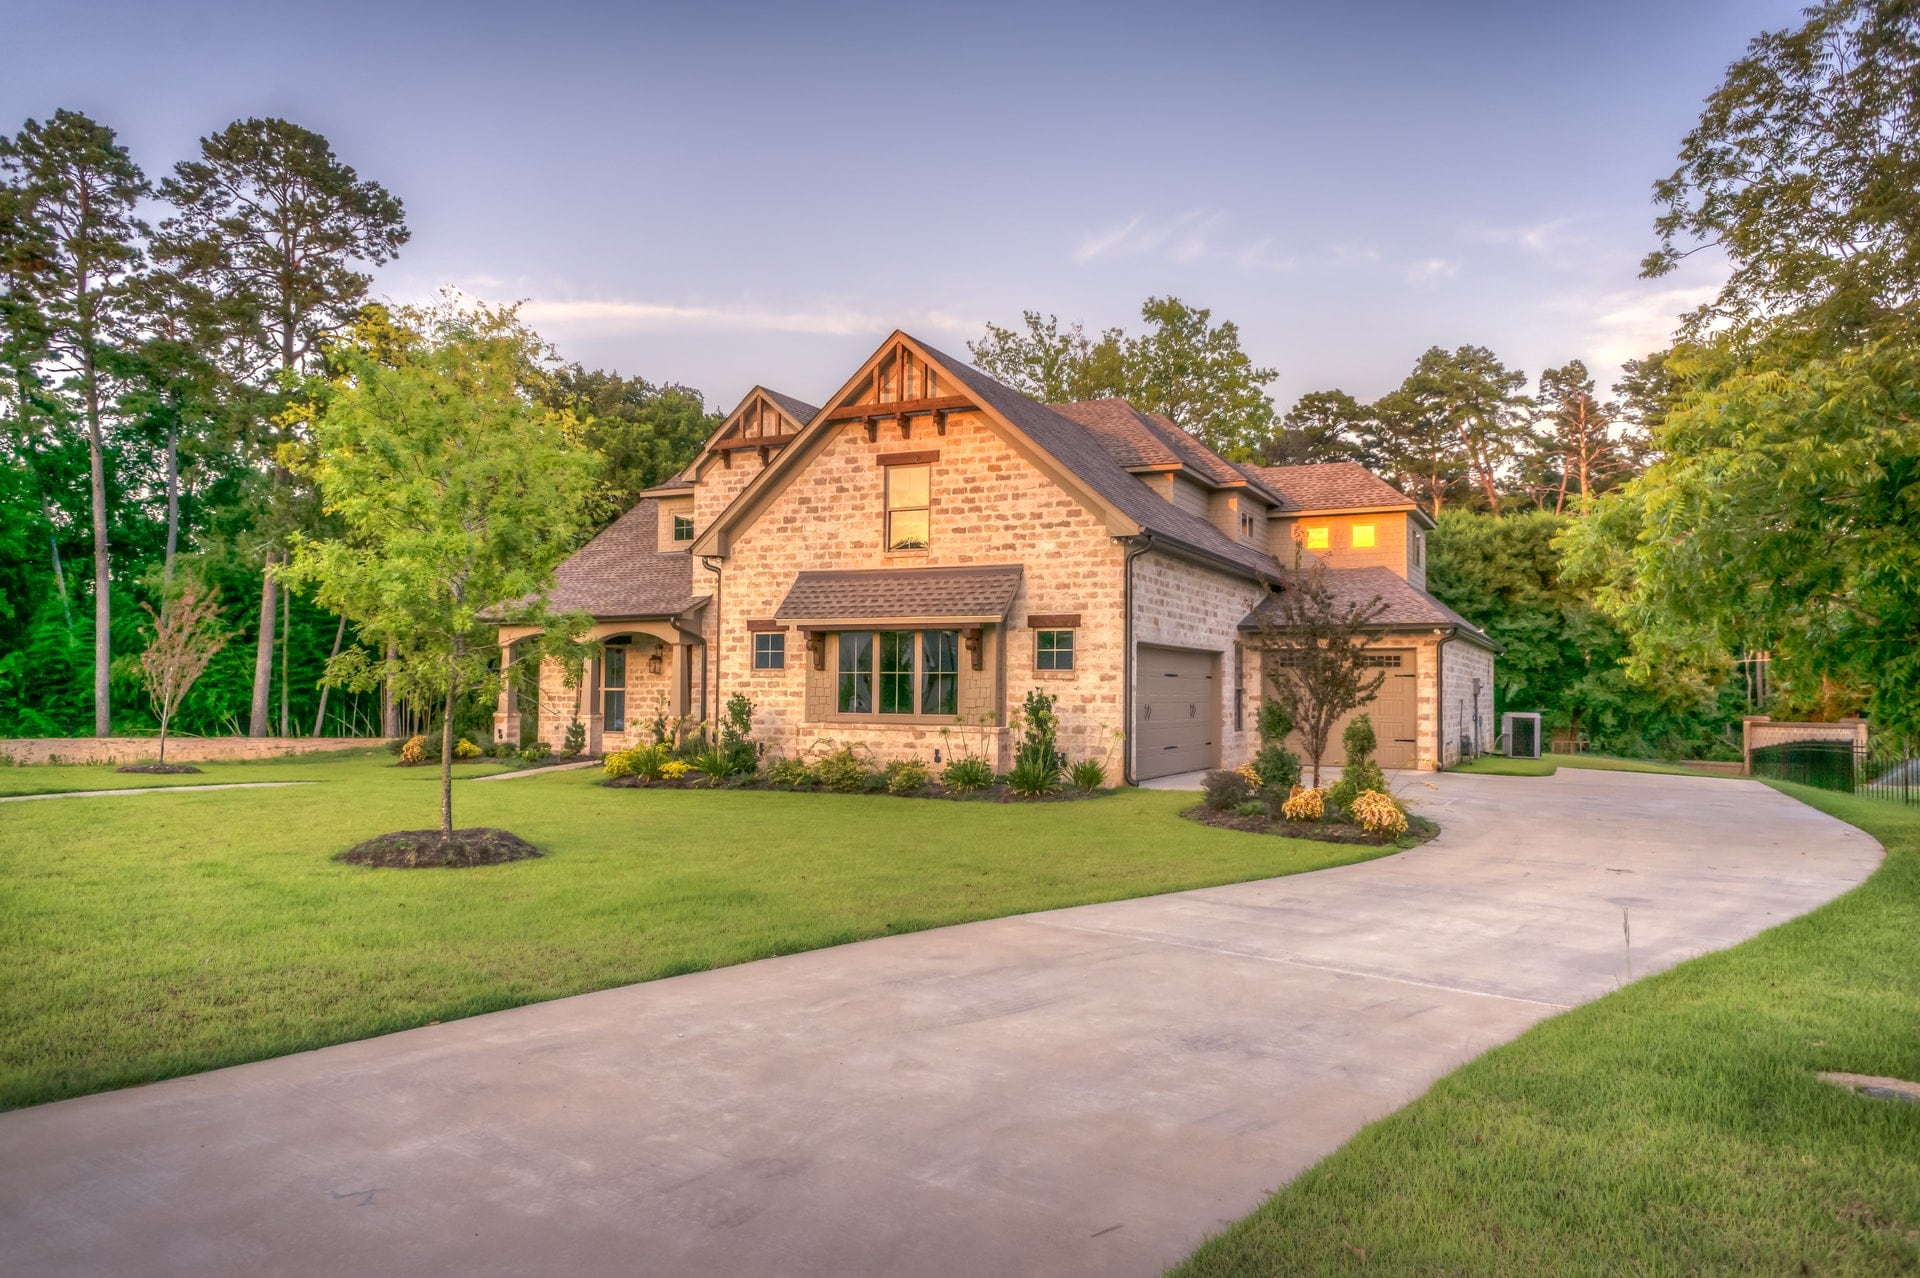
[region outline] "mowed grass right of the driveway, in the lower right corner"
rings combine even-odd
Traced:
[[[1885,864],[1448,1075],[1175,1272],[1920,1270],[1920,1105],[1814,1078],[1920,1080],[1920,810],[1778,789]]]

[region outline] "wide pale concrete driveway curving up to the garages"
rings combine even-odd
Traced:
[[[1434,787],[1448,833],[1365,865],[4,1115],[0,1272],[1154,1274],[1461,1061],[1880,862],[1747,781]]]

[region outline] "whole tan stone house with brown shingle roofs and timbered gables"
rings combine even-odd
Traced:
[[[1298,539],[1386,603],[1380,762],[1436,768],[1490,741],[1496,649],[1425,591],[1430,528],[1361,466],[1231,464],[1123,399],[1041,405],[897,332],[826,407],[749,391],[559,568],[551,606],[591,616],[603,654],[576,687],[547,668],[505,693],[495,735],[559,745],[578,718],[603,752],[745,693],[781,754],[1006,768],[1041,689],[1068,756],[1114,777],[1235,766]]]

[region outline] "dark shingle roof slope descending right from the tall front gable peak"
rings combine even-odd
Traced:
[[[920,340],[916,338],[916,342]],[[1106,445],[1087,426],[1027,399],[1014,388],[995,382],[979,368],[937,351],[925,342],[920,345],[979,403],[1010,420],[1087,487],[1158,539],[1223,560],[1252,576],[1273,578],[1279,574],[1279,564],[1267,555],[1240,545],[1198,514],[1162,501],[1154,489],[1114,461]]]

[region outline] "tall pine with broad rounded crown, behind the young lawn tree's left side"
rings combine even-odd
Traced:
[[[407,242],[399,200],[361,178],[321,134],[284,119],[242,119],[200,140],[200,159],[182,159],[159,184],[177,209],[159,225],[154,253],[194,282],[207,311],[223,319],[219,357],[236,384],[250,386],[257,453],[273,474],[267,510],[253,706],[248,733],[267,735],[273,685],[276,581],[273,568],[292,530],[276,462],[288,422],[282,382],[311,372],[323,342],[353,322],[369,274]]]

